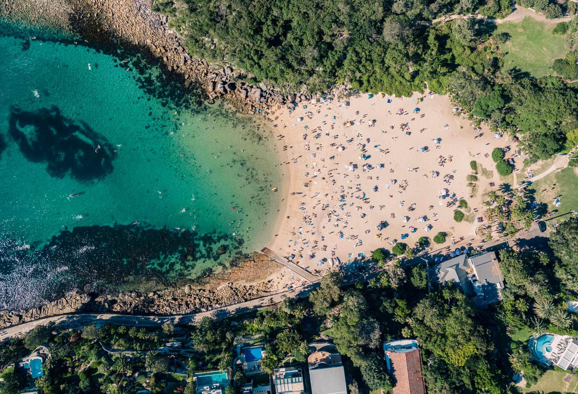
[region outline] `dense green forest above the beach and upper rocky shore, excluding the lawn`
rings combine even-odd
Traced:
[[[569,3],[521,5],[555,18],[576,12]],[[345,83],[398,96],[426,87],[449,93],[473,120],[524,137],[521,148],[532,161],[564,150],[566,134],[578,128],[577,84],[504,68],[501,46],[509,35],[494,35],[494,23],[431,24],[450,14],[503,18],[512,12],[510,0],[155,0],[153,9],[169,16],[192,55],[228,62],[246,72],[244,79],[283,91]],[[576,24],[565,23],[564,34],[576,35]],[[554,65],[567,80],[578,75],[573,42]]]

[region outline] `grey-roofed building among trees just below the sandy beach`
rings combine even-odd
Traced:
[[[431,282],[443,285],[453,282],[473,297],[476,305],[485,307],[502,299],[502,273],[495,252],[469,257],[467,253],[436,264],[428,271]]]

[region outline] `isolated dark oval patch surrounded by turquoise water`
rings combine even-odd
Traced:
[[[56,106],[36,112],[12,108],[8,133],[26,159],[46,163],[55,178],[69,173],[79,181],[92,181],[113,170],[113,145],[86,123],[66,119]]]

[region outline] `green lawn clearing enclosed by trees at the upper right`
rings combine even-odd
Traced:
[[[494,34],[506,32],[512,37],[502,45],[505,68],[518,67],[536,78],[553,73],[554,59],[566,55],[564,37],[552,34],[554,27],[529,16],[521,22],[498,24]]]

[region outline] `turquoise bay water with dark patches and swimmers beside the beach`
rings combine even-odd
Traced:
[[[195,278],[269,240],[281,176],[254,119],[138,56],[3,33],[0,309]]]

